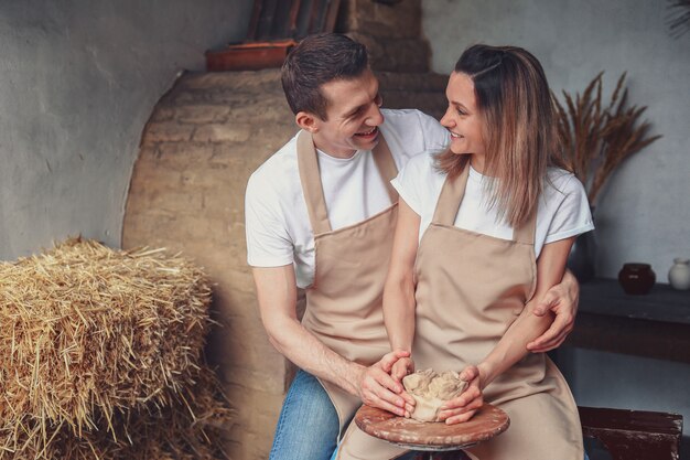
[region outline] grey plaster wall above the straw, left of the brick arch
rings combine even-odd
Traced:
[[[0,1],[0,259],[83,234],[119,246],[139,138],[251,0]]]

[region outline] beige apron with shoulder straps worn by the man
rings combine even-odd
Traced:
[[[393,204],[360,223],[332,231],[312,136],[302,131],[298,138],[316,267],[314,282],[306,289],[302,324],[331,350],[363,365],[374,364],[390,351],[382,295],[398,216],[398,193],[390,185],[398,170],[382,135],[373,154]],[[342,431],[362,400],[328,382],[321,384],[335,406]]]

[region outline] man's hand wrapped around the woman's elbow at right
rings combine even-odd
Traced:
[[[543,334],[527,344],[527,350],[543,353],[559,347],[575,325],[579,300],[580,285],[570,271],[565,271],[561,284],[549,289],[535,307],[536,315],[551,312],[556,319]]]

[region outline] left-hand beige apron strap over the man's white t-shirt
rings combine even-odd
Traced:
[[[326,200],[323,196],[323,188],[321,186],[319,159],[312,135],[309,131],[301,131],[298,136],[298,165],[312,231],[314,235],[328,233],[331,232],[331,223],[328,222]]]

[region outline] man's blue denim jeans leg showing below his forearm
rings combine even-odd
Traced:
[[[300,370],[283,402],[269,460],[328,460],[338,428],[328,394],[316,377]]]

